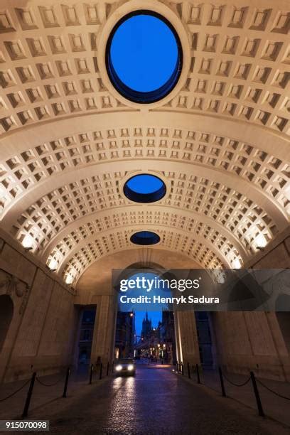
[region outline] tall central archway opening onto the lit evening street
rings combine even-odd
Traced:
[[[160,264],[140,262],[131,264],[122,272],[124,279],[141,279],[151,281],[165,279],[164,269]],[[118,281],[120,280],[120,277]],[[150,295],[156,292],[155,286]],[[163,296],[169,296],[168,289],[163,289]],[[160,293],[161,289],[157,293]],[[130,292],[127,292],[130,294]],[[143,297],[145,288],[133,289],[131,296]],[[138,299],[138,297],[137,297]],[[130,304],[124,308],[119,304],[114,343],[114,357],[135,358],[138,363],[161,363],[162,365],[176,362],[176,334],[173,307],[162,304]]]

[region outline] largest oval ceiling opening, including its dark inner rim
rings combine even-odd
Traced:
[[[106,65],[112,85],[127,100],[156,102],[171,92],[181,75],[181,42],[163,16],[134,11],[110,33]]]

